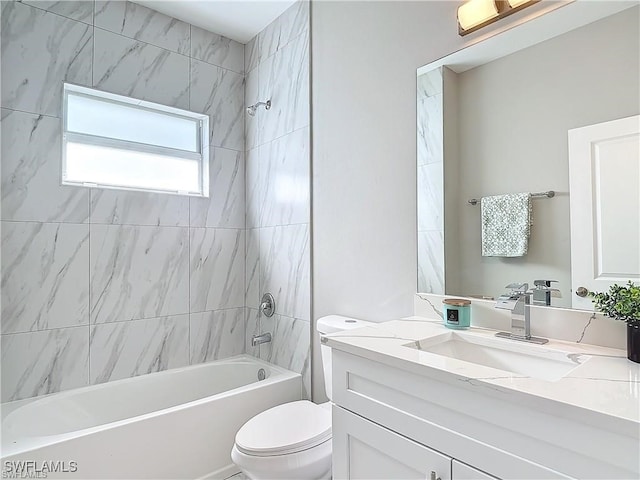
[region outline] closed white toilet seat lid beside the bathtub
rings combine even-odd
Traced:
[[[258,457],[288,455],[331,439],[331,411],[308,400],[270,408],[236,434],[237,449]]]

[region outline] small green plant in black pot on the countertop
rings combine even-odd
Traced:
[[[590,292],[597,310],[627,323],[627,358],[640,363],[640,285],[613,284],[608,292]]]

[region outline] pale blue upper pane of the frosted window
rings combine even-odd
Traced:
[[[68,94],[67,131],[198,152],[198,121]]]

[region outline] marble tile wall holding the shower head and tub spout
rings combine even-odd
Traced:
[[[311,396],[309,3],[298,2],[245,47],[247,352],[303,376]],[[276,315],[262,317],[263,293]],[[251,336],[273,340],[251,347]]]

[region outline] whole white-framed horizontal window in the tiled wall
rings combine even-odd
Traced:
[[[209,117],[64,84],[62,184],[209,196]]]

